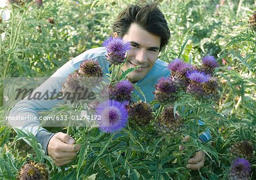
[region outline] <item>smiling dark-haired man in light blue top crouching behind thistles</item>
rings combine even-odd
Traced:
[[[137,83],[138,87],[144,92],[147,101],[154,98],[154,85],[161,76],[170,75],[167,64],[158,58],[160,50],[166,46],[170,39],[170,30],[166,19],[156,5],[131,5],[126,7],[117,17],[113,24],[113,36],[122,37],[123,40],[129,41],[131,50],[127,53],[127,61],[121,67],[123,71],[140,66],[139,69],[130,72],[128,79]],[[109,63],[106,61],[106,49],[94,48],[90,49],[71,61],[67,62],[63,67],[59,68],[52,77],[67,77],[68,74],[77,70],[80,63],[84,59],[95,59],[104,70],[104,74],[108,73]],[[61,89],[59,84],[48,84],[55,89]],[[32,105],[31,105],[32,103]],[[11,111],[12,115],[32,114],[38,117],[38,112],[33,109],[51,109],[56,104],[55,101],[44,102],[28,102],[23,100],[15,105]],[[39,126],[39,125],[38,125]],[[68,164],[76,157],[80,147],[74,146],[75,140],[63,132],[52,134],[45,129],[40,128],[36,131],[35,127],[23,128],[33,132],[39,142],[42,144],[44,151],[53,158],[57,166]],[[201,139],[204,139],[201,138]],[[205,153],[197,152],[195,157],[189,159],[187,168],[199,169],[204,165]]]

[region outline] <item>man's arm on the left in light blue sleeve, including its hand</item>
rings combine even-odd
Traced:
[[[64,83],[65,78],[68,74],[72,73],[74,68],[70,63],[66,63],[59,70],[55,72],[46,82],[40,87],[36,88],[35,92],[46,91],[59,92],[62,88],[61,83]],[[64,133],[52,134],[46,129],[40,127],[39,113],[52,109],[56,104],[63,102],[63,100],[24,100],[18,102],[13,109],[11,109],[10,117],[34,117],[34,121],[11,121],[9,123],[13,127],[18,127],[21,130],[32,132],[38,139],[39,143],[42,144],[43,150],[53,158],[53,161],[57,166],[67,164],[75,156],[76,151],[79,151],[79,146],[73,147],[75,140]],[[51,122],[49,122],[51,123]],[[47,125],[51,126],[51,125]],[[57,147],[57,148],[56,148]]]

